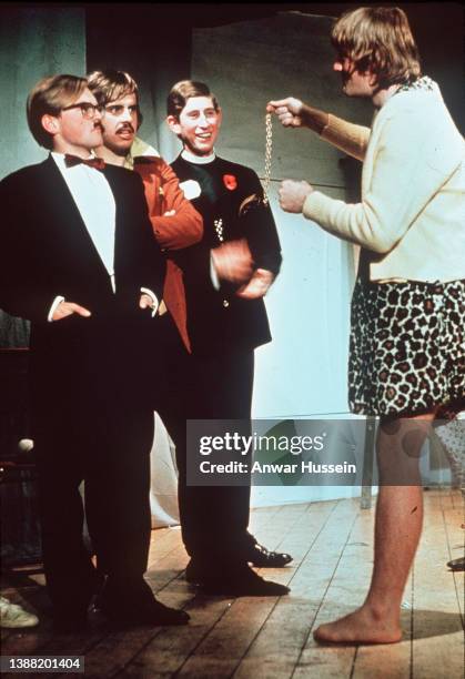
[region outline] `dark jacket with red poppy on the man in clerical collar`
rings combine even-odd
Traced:
[[[172,168],[180,182],[194,180],[201,194],[192,200],[203,216],[204,236],[186,251],[184,280],[188,300],[188,328],[194,353],[224,353],[234,348],[253,349],[270,342],[271,333],[263,300],[242,300],[236,287],[223,283],[215,291],[210,277],[210,251],[220,245],[215,221],[222,220],[222,237],[245,237],[255,267],[277,274],[281,247],[273,214],[260,199],[263,189],[250,168],[215,158],[212,163],[194,164],[179,156]],[[259,200],[256,200],[259,199]]]

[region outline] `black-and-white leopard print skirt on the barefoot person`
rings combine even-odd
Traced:
[[[353,413],[415,414],[465,398],[465,281],[371,283],[352,298]],[[462,402],[462,404],[461,404]],[[444,417],[444,414],[438,415]]]

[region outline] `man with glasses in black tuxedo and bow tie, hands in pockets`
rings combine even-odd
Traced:
[[[29,318],[31,415],[43,561],[55,629],[85,627],[95,570],[118,624],[181,625],[143,579],[150,543],[153,413],[144,386],[165,263],[142,182],[105,166],[101,110],[82,78],[41,80],[28,122],[49,158],[0,183],[0,306]]]

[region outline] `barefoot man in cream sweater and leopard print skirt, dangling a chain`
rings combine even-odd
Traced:
[[[464,140],[436,83],[422,77],[405,13],[346,12],[334,26],[334,71],[348,97],[370,98],[372,129],[294,98],[271,101],[284,126],[306,126],[363,162],[347,204],[286,180],[283,210],[362,247],[354,291],[350,402],[381,417],[375,560],[364,605],[320,626],[321,641],[400,641],[400,606],[422,528],[417,458],[442,411],[465,394]]]

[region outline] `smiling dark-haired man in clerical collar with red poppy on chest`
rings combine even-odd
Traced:
[[[195,385],[190,417],[247,423],[254,348],[271,340],[263,296],[281,265],[276,227],[255,172],[215,155],[221,110],[204,83],[182,81],[172,88],[168,124],[184,146],[172,168],[204,223],[203,240],[191,249],[185,270]],[[185,464],[180,474],[185,478]],[[181,487],[190,581],[212,594],[289,591],[259,578],[247,565],[282,567],[292,560],[269,551],[247,531],[249,486],[196,487],[184,482]]]

